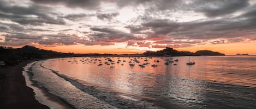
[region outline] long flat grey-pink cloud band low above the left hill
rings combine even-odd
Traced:
[[[23,46],[26,44],[41,44],[41,45],[72,45],[72,44],[85,44],[88,42],[84,37],[70,34],[46,34],[46,35],[33,35],[33,34],[7,34],[5,41],[0,42],[2,45],[8,46]]]

